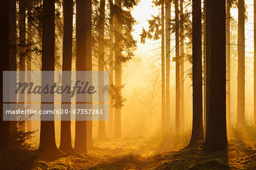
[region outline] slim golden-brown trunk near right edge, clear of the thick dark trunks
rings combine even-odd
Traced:
[[[245,125],[245,1],[238,0],[237,125]]]

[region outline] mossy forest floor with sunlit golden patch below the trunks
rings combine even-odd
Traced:
[[[230,139],[228,151],[223,152],[204,151],[200,144],[164,152],[143,137],[96,141],[88,154],[39,161],[36,169],[256,169],[256,142]]]

